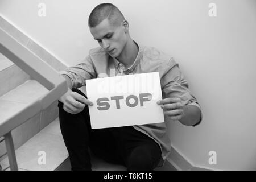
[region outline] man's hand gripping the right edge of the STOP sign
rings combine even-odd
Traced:
[[[180,98],[165,98],[157,102],[164,109],[164,115],[172,120],[180,120],[184,117],[185,106],[181,104]]]

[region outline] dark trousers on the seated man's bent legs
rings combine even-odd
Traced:
[[[73,92],[86,97],[80,90],[73,89]],[[149,171],[157,167],[161,158],[158,143],[133,126],[92,130],[88,105],[79,114],[64,111],[62,102],[58,107],[60,129],[72,170],[91,170],[89,149],[99,158],[122,164],[129,171]]]

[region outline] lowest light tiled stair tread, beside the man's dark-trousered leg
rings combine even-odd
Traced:
[[[40,151],[46,154],[46,164],[39,164],[42,157]],[[53,171],[68,157],[67,148],[60,133],[59,119],[51,122],[38,134],[24,143],[16,151],[19,169],[29,171]],[[1,166],[9,166],[8,159],[0,162]]]

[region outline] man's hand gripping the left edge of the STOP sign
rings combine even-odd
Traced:
[[[93,103],[77,92],[69,90],[63,98],[63,109],[71,114],[78,114],[84,110],[85,105],[93,106]]]

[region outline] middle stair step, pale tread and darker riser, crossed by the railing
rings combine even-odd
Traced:
[[[40,98],[46,94],[48,90],[40,85],[35,80],[29,80],[24,84],[16,87],[0,97],[0,130],[2,130],[2,123],[7,121],[15,113],[23,110],[24,107],[29,105],[31,102]],[[48,125],[57,118],[56,103],[49,106],[46,110],[36,114],[28,121],[24,122],[19,127],[16,127],[11,131],[14,140],[14,147],[18,148],[22,146],[28,139],[37,134],[43,127]],[[51,110],[51,111],[49,111]],[[2,137],[3,138],[3,137]],[[0,156],[5,154],[6,147],[5,142],[0,143]],[[5,158],[3,156],[0,160]]]

